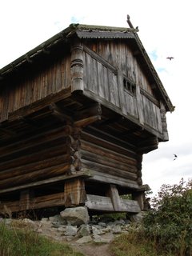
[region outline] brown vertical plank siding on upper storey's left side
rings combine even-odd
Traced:
[[[9,80],[0,94],[0,122],[15,110],[70,87],[70,54],[41,68]]]

